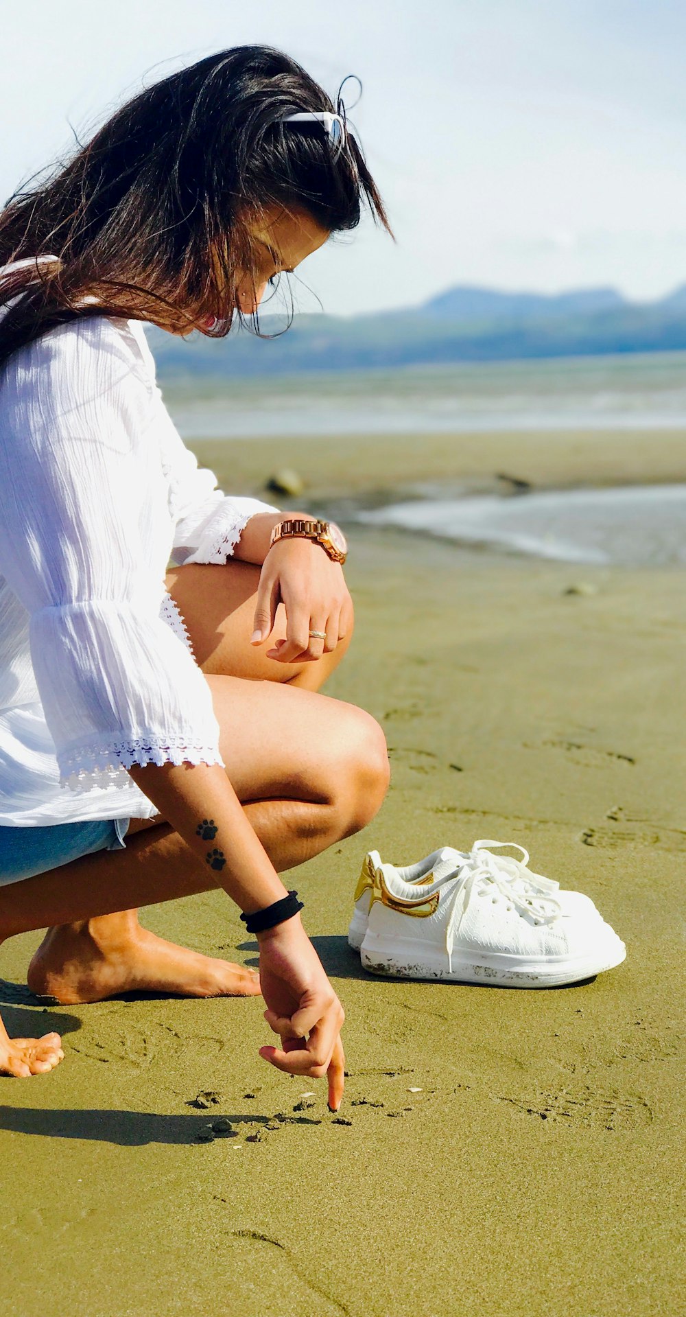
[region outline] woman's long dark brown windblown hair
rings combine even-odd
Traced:
[[[0,266],[30,258],[0,271],[0,307],[12,302],[0,366],[79,316],[226,333],[238,274],[254,269],[250,221],[267,207],[305,211],[336,233],[356,228],[366,203],[391,232],[356,136],[340,149],[317,124],[282,122],[334,109],[300,65],[267,46],[223,50],[134,96],[0,212]]]

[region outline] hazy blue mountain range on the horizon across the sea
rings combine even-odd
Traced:
[[[267,316],[262,332],[270,332]],[[220,341],[149,333],[161,381],[681,352],[686,286],[652,303],[627,302],[614,288],[544,295],[457,287],[400,311],[300,315],[267,338],[240,328]]]

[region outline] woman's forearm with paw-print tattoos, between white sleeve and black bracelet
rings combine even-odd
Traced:
[[[287,896],[221,764],[134,764],[128,772],[244,913]]]

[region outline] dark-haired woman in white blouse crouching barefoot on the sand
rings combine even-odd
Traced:
[[[387,228],[345,115],[245,46],[144,91],[0,213],[0,940],[47,927],[28,981],[59,1002],[262,990],[261,1056],[328,1075],[336,1109],[344,1013],[279,872],[388,784],[378,724],[317,693],[353,628],[345,540],[216,489],[141,321],[226,333],[362,202]],[[138,925],[216,886],[259,977]],[[62,1055],[0,1026],[3,1073]]]

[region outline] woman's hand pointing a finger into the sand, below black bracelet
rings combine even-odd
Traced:
[[[337,1112],[345,1084],[345,1015],[300,915],[259,932],[257,940],[265,1019],[282,1040],[280,1048],[261,1047],[259,1055],[287,1075],[327,1075],[329,1108]]]

